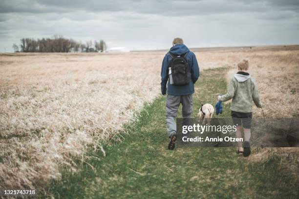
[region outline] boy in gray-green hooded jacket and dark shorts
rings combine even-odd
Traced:
[[[245,140],[243,147],[241,142],[237,142],[237,153],[243,153],[243,156],[247,157],[251,153],[249,139],[251,136],[252,101],[254,101],[258,108],[261,108],[262,104],[259,100],[256,82],[247,72],[249,68],[248,60],[243,60],[237,65],[238,72],[230,80],[227,93],[218,96],[218,100],[227,101],[233,99],[231,110],[234,125],[237,126],[235,137],[242,138],[241,130],[243,129]]]

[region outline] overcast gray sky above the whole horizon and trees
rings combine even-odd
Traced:
[[[0,52],[63,35],[108,47],[168,49],[299,43],[299,0],[0,0]]]

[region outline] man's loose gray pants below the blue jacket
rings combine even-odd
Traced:
[[[167,135],[171,137],[173,134],[176,134],[176,123],[175,118],[177,116],[177,110],[180,106],[182,107],[182,116],[183,118],[191,118],[192,114],[192,94],[190,95],[167,95],[166,99],[166,123],[167,123]]]

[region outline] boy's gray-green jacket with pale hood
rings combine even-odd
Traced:
[[[228,84],[227,93],[220,97],[221,101],[233,99],[231,110],[241,113],[252,112],[253,101],[257,107],[262,104],[259,100],[256,82],[249,73],[239,71]]]

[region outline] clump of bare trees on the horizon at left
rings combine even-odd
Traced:
[[[31,39],[22,38],[19,45],[13,44],[15,52],[24,53],[69,53],[69,52],[105,52],[106,42],[104,40],[77,42],[73,39],[65,39],[62,36],[53,38]]]

